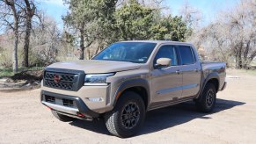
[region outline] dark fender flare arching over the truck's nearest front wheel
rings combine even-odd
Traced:
[[[121,96],[122,92],[124,90],[128,90],[129,88],[133,88],[133,87],[143,87],[146,90],[147,99],[148,99],[147,105],[149,106],[149,104],[150,104],[150,84],[148,83],[147,80],[145,80],[143,78],[138,78],[138,79],[132,79],[132,80],[128,80],[128,81],[121,83],[121,85],[118,87],[118,89],[114,93],[113,107],[117,103],[118,98]]]

